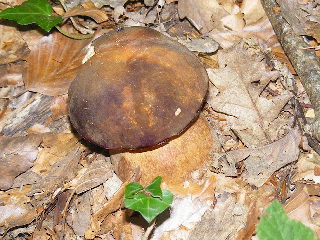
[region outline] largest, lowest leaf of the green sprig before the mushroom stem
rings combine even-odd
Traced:
[[[138,193],[134,198],[124,198],[124,206],[138,211],[147,222],[151,222],[158,214],[172,204],[173,194],[170,191],[162,191],[162,200],[152,196]]]

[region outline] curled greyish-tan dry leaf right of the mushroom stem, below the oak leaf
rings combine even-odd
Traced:
[[[273,172],[298,159],[300,141],[299,132],[296,129],[291,129],[285,137],[269,145],[222,154],[216,153],[215,155],[218,158],[226,156],[226,160],[223,160],[226,163],[222,170],[234,172],[234,176],[237,175],[235,163],[244,160],[245,168],[249,173],[249,184],[260,187]],[[214,167],[219,166],[218,161],[217,158],[214,160]]]

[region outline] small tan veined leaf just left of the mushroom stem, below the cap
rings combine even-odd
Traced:
[[[95,161],[80,179],[76,187],[77,195],[103,184],[107,179],[112,177],[113,166],[108,161],[110,161],[109,157],[101,154],[96,157]]]

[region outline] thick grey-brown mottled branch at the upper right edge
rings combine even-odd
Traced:
[[[304,38],[294,33],[293,28],[282,17],[281,9],[275,0],[261,0],[261,3],[313,105],[315,118],[313,123],[305,126],[306,131],[320,141],[319,58],[314,49],[307,49],[310,45]]]

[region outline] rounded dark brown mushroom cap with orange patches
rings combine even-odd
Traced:
[[[182,132],[208,89],[202,62],[145,27],[105,34],[69,88],[69,115],[87,140],[107,149],[151,147]]]

